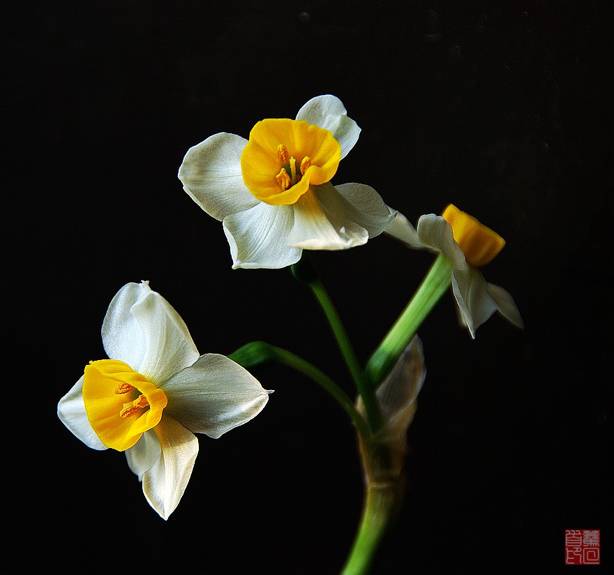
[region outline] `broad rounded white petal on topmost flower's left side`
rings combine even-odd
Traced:
[[[204,211],[222,221],[258,200],[246,188],[241,173],[241,153],[247,140],[220,133],[191,147],[179,167],[184,190]]]

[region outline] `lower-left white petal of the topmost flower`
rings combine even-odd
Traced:
[[[264,202],[225,218],[232,267],[278,269],[298,262],[302,251],[287,244],[293,223],[292,206]]]

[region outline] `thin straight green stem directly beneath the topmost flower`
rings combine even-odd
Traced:
[[[377,399],[375,398],[373,386],[370,384],[368,378],[366,377],[366,373],[363,371],[363,368],[358,361],[356,352],[354,352],[352,343],[350,343],[350,338],[347,336],[347,331],[345,331],[343,322],[341,322],[341,318],[339,317],[339,314],[337,313],[337,310],[326,288],[324,288],[324,284],[322,284],[322,281],[317,278],[310,281],[308,285],[320,304],[320,307],[322,307],[322,311],[324,311],[324,315],[326,315],[329,325],[333,330],[333,334],[339,349],[341,350],[341,354],[345,359],[347,368],[350,370],[352,379],[354,380],[358,393],[360,394],[364,403],[370,428],[373,433],[377,433],[377,431],[382,427],[383,418],[382,410],[380,410],[380,405],[377,403]]]

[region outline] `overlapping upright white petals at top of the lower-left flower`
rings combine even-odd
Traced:
[[[184,320],[147,282],[128,283],[112,299],[103,344],[110,358],[125,361],[156,384],[199,355]]]

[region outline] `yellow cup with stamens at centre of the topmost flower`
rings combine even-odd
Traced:
[[[331,180],[341,146],[329,130],[303,120],[266,119],[251,130],[241,154],[248,190],[267,204],[294,204],[308,191]]]

